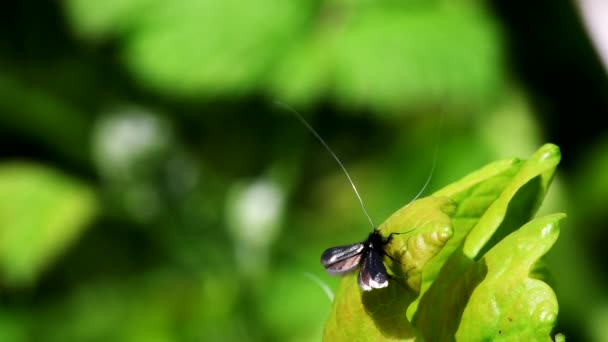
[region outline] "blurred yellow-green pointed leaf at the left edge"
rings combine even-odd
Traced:
[[[55,170],[28,163],[0,166],[0,273],[24,285],[87,226],[97,209],[93,191]]]

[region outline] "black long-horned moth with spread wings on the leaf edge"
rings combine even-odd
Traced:
[[[328,248],[321,255],[321,264],[331,275],[341,275],[361,266],[359,287],[363,291],[387,287],[388,274],[382,263],[382,256],[390,256],[383,247],[390,242],[393,234],[397,233],[392,233],[384,239],[380,231],[374,229],[364,242]]]

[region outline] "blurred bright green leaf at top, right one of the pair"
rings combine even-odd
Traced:
[[[347,105],[470,105],[500,85],[499,35],[476,6],[378,6],[354,12],[337,35],[336,94]]]

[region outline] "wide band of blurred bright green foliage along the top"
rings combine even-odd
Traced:
[[[66,6],[83,37],[121,38],[121,58],[133,74],[171,95],[261,91],[302,106],[330,94],[345,106],[390,113],[437,101],[486,103],[501,87],[500,35],[477,5],[71,0]]]

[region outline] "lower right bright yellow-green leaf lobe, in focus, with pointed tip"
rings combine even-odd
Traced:
[[[557,240],[564,214],[532,220],[492,248],[475,267],[484,274],[467,303],[456,339],[549,340],[557,299],[545,282],[529,276]]]

